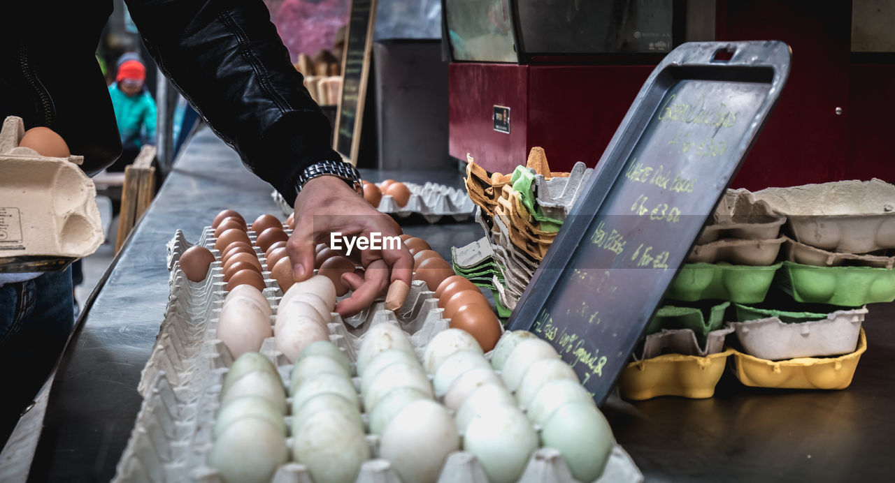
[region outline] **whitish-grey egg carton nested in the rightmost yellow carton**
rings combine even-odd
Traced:
[[[797,357],[822,357],[855,352],[867,307],[836,311],[826,319],[786,323],[777,317],[728,322],[746,354],[781,361]]]

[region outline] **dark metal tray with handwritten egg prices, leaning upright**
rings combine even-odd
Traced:
[[[780,42],[669,53],[516,305],[510,329],[555,346],[598,404],[753,145],[789,59]]]

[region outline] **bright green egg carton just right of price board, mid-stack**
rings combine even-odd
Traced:
[[[684,302],[726,300],[758,304],[764,300],[780,263],[767,267],[729,263],[685,263],[666,298]]]

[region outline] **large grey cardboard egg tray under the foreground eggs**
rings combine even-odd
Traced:
[[[254,233],[249,231],[249,237],[253,240]],[[198,245],[206,246],[219,258],[213,247],[214,241],[213,230],[206,228]],[[171,292],[165,320],[141,375],[138,390],[143,403],[118,462],[115,481],[222,481],[217,471],[207,465],[207,457],[221,382],[233,363],[226,346],[216,338],[217,316],[226,297],[226,284],[219,261],[212,262],[203,281],[186,279],[178,259],[190,246],[180,230],[167,245]],[[263,254],[258,254],[266,269]],[[267,288],[263,294],[274,312],[272,326],[282,292],[276,281],[270,279],[269,271],[264,271],[264,276]],[[328,324],[329,340],[354,365],[367,330],[380,323],[396,323],[407,333],[417,356],[422,357],[430,339],[447,329],[447,320],[441,317],[441,312],[433,292],[422,282],[414,281],[405,304],[394,312],[386,310],[384,303],[378,301],[349,320],[332,313],[332,321]],[[293,364],[274,348],[273,337],[264,340],[260,354],[277,366],[284,386],[289,387]],[[354,384],[359,387],[360,379],[354,378]],[[291,427],[289,419],[287,415],[287,428]],[[366,414],[363,419],[368,419]],[[366,441],[373,459],[362,464],[356,482],[400,483],[390,463],[377,458],[379,437],[368,434]],[[303,464],[288,462],[277,469],[272,481],[306,483],[312,479]],[[439,482],[461,481],[488,481],[475,457],[462,451],[449,455],[439,476]],[[532,455],[520,481],[571,483],[574,480],[558,451],[541,448]],[[598,481],[639,482],[643,481],[643,475],[630,456],[616,444]]]

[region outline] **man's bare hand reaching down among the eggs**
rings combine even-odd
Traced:
[[[294,209],[295,229],[286,242],[286,253],[295,281],[311,277],[314,248],[318,243],[328,244],[332,232],[341,232],[343,237],[370,237],[373,232],[382,237],[401,234],[391,217],[373,208],[335,176],[320,176],[305,183],[295,198]],[[361,264],[365,270],[363,278],[351,272],[342,277],[354,290],[350,298],[336,306],[336,312],[343,316],[361,312],[394,280],[410,285],[413,276],[413,257],[404,244],[397,249],[362,250]]]

